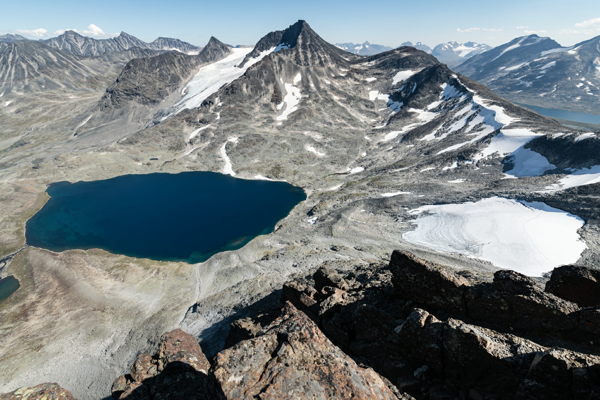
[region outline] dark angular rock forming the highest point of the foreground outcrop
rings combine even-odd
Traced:
[[[394,286],[403,298],[446,311],[466,312],[463,295],[469,282],[449,268],[394,250],[389,269],[394,274]]]

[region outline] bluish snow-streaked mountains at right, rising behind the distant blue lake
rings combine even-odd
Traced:
[[[455,71],[514,102],[600,113],[600,36],[571,47],[529,35],[472,56]]]

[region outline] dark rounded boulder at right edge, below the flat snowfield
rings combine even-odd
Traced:
[[[580,307],[600,306],[600,270],[578,265],[556,267],[545,291]]]

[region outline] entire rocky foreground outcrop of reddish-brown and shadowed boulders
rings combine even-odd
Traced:
[[[192,336],[165,333],[113,398],[600,399],[598,271],[556,268],[544,290],[398,250],[346,264],[285,283],[283,309],[232,323],[211,363]],[[0,400],[43,395],[72,398],[42,384]]]

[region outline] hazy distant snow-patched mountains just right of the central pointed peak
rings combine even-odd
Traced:
[[[381,44],[371,44],[368,41],[362,44],[355,43],[335,43],[335,46],[340,49],[346,50],[347,52],[358,54],[358,55],[374,55],[378,53],[387,52],[393,50],[392,47],[382,46]],[[447,64],[448,67],[455,67],[461,64],[465,59],[471,58],[474,55],[480,54],[493,47],[488,44],[479,44],[472,41],[467,43],[458,43],[457,41],[449,41],[448,43],[438,44],[436,47],[431,47],[418,41],[417,43],[411,43],[405,41],[398,47],[411,46],[418,50],[422,50],[425,53],[431,54],[436,57],[440,62]]]

